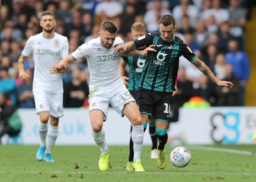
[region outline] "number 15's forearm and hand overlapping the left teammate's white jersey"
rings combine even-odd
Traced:
[[[58,64],[54,64],[50,68],[51,74],[57,74],[57,73],[65,73],[68,70],[68,65],[74,61],[72,56],[67,56],[64,59],[61,59]]]

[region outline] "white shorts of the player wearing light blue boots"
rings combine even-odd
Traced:
[[[54,118],[61,118],[63,114],[63,93],[33,92],[35,96],[36,114],[49,112]]]

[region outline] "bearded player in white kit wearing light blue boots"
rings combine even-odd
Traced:
[[[68,39],[54,32],[56,20],[52,11],[41,14],[42,33],[31,36],[19,58],[19,78],[28,79],[24,70],[26,58],[33,54],[35,71],[33,94],[35,96],[36,113],[39,115],[38,133],[40,148],[36,159],[54,162],[51,150],[58,137],[59,118],[63,116],[63,83],[61,75],[52,75],[49,70],[52,64],[58,64],[61,58],[68,56]],[[50,118],[49,130],[47,123]]]

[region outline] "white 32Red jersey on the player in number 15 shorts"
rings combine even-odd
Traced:
[[[118,68],[119,53],[114,54],[115,46],[118,44],[124,44],[120,37],[116,37],[112,47],[107,49],[100,44],[100,38],[98,37],[84,43],[71,54],[74,59],[87,58],[90,87],[112,87],[117,84],[124,84],[120,78]]]

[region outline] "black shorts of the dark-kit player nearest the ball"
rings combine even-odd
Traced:
[[[141,114],[153,116],[156,121],[170,121],[172,93],[138,89],[138,106]]]

